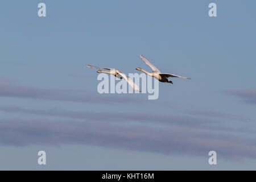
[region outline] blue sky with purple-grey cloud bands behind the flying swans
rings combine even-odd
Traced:
[[[0,169],[255,169],[255,6],[1,1]],[[150,71],[140,53],[192,80],[159,83],[158,100],[97,93],[86,63]]]

